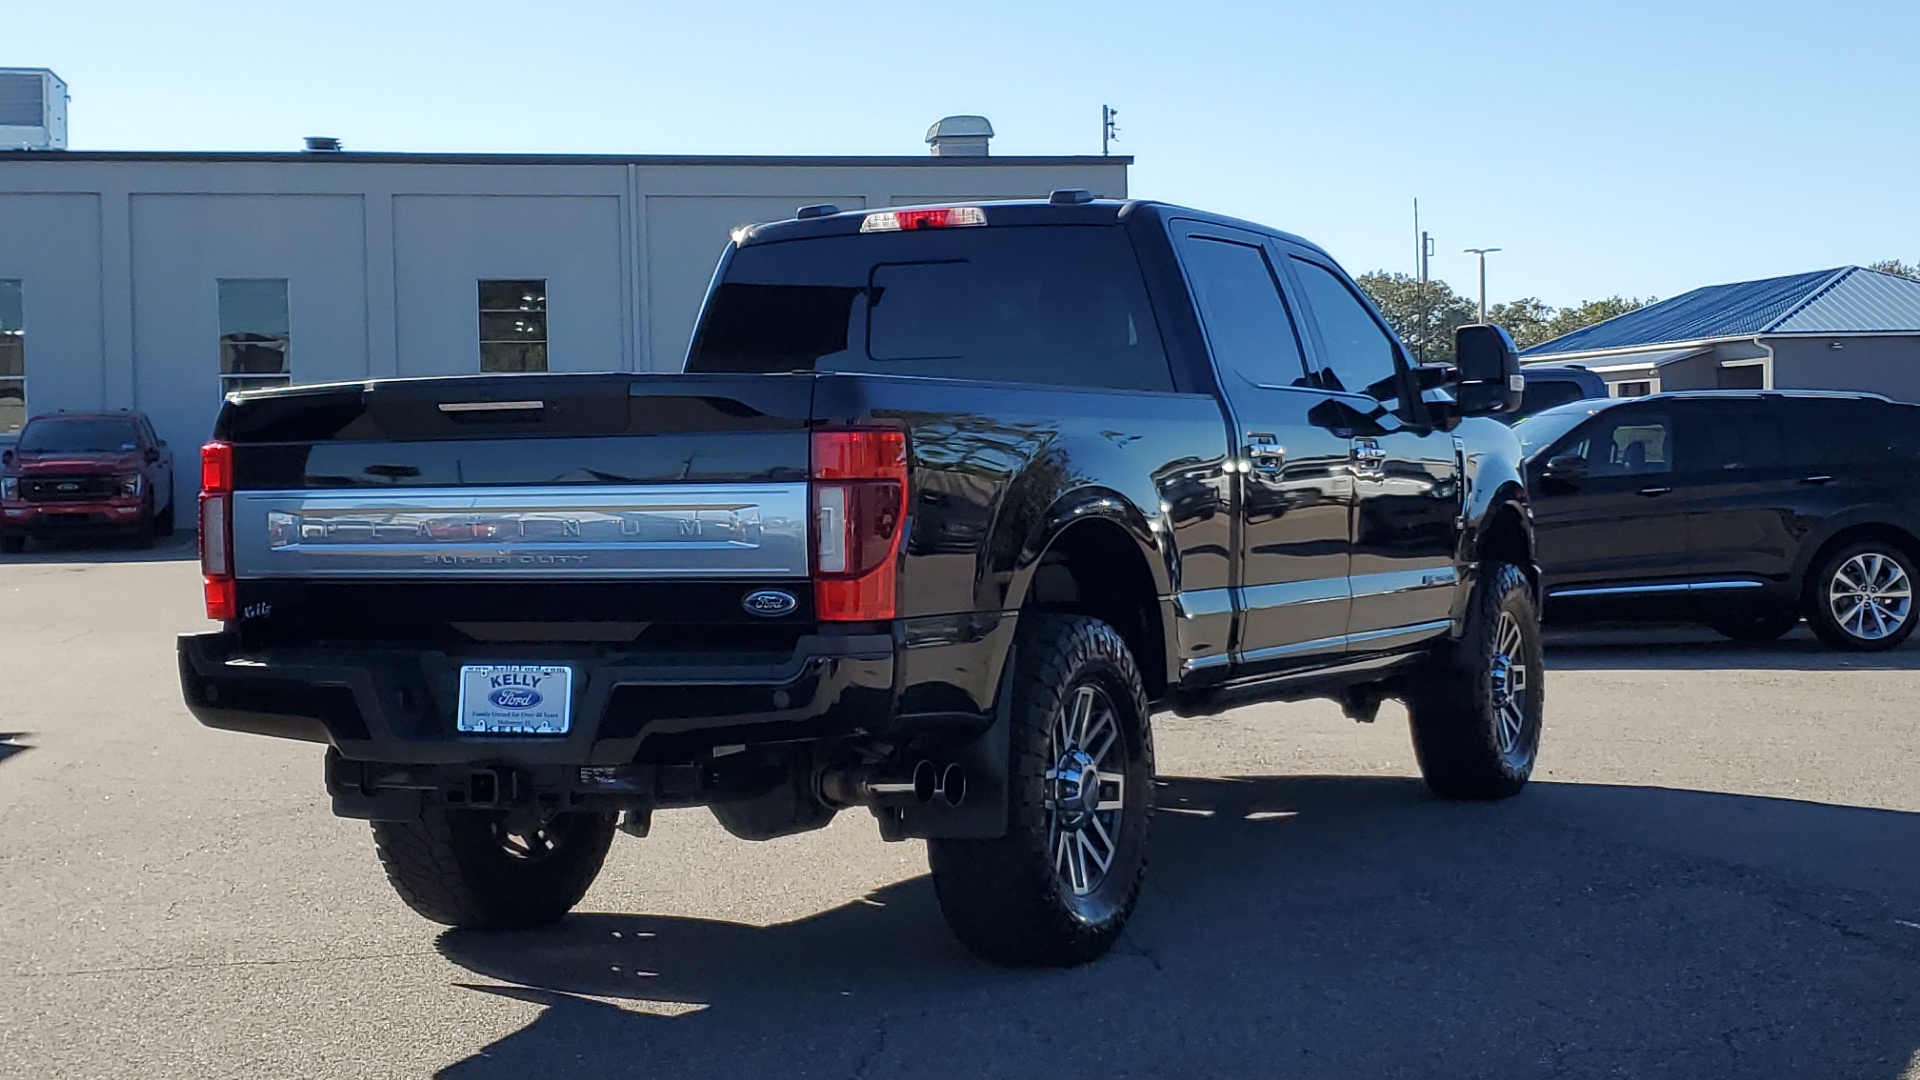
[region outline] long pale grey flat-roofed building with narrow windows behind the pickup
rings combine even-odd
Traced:
[[[1129,161],[0,150],[0,438],[140,409],[184,465],[232,386],[672,371],[737,225],[1123,198]]]

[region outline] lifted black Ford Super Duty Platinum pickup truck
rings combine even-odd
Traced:
[[[1513,344],[1415,367],[1319,248],[1152,202],[735,233],[682,375],[234,394],[192,713],[328,744],[420,915],[564,915],[618,830],[868,807],[1008,963],[1140,888],[1150,715],[1407,701],[1503,798],[1542,715]]]

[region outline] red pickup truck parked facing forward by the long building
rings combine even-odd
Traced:
[[[173,534],[173,452],[142,413],[52,413],[0,452],[0,552],[27,538]]]

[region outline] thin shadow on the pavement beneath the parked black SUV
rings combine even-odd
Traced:
[[[1730,642],[1705,626],[1549,628],[1549,671],[1916,671],[1920,638],[1884,653],[1828,648],[1807,625],[1763,646]]]

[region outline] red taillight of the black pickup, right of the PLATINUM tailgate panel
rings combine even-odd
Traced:
[[[906,432],[814,432],[814,615],[893,619],[906,528]]]

